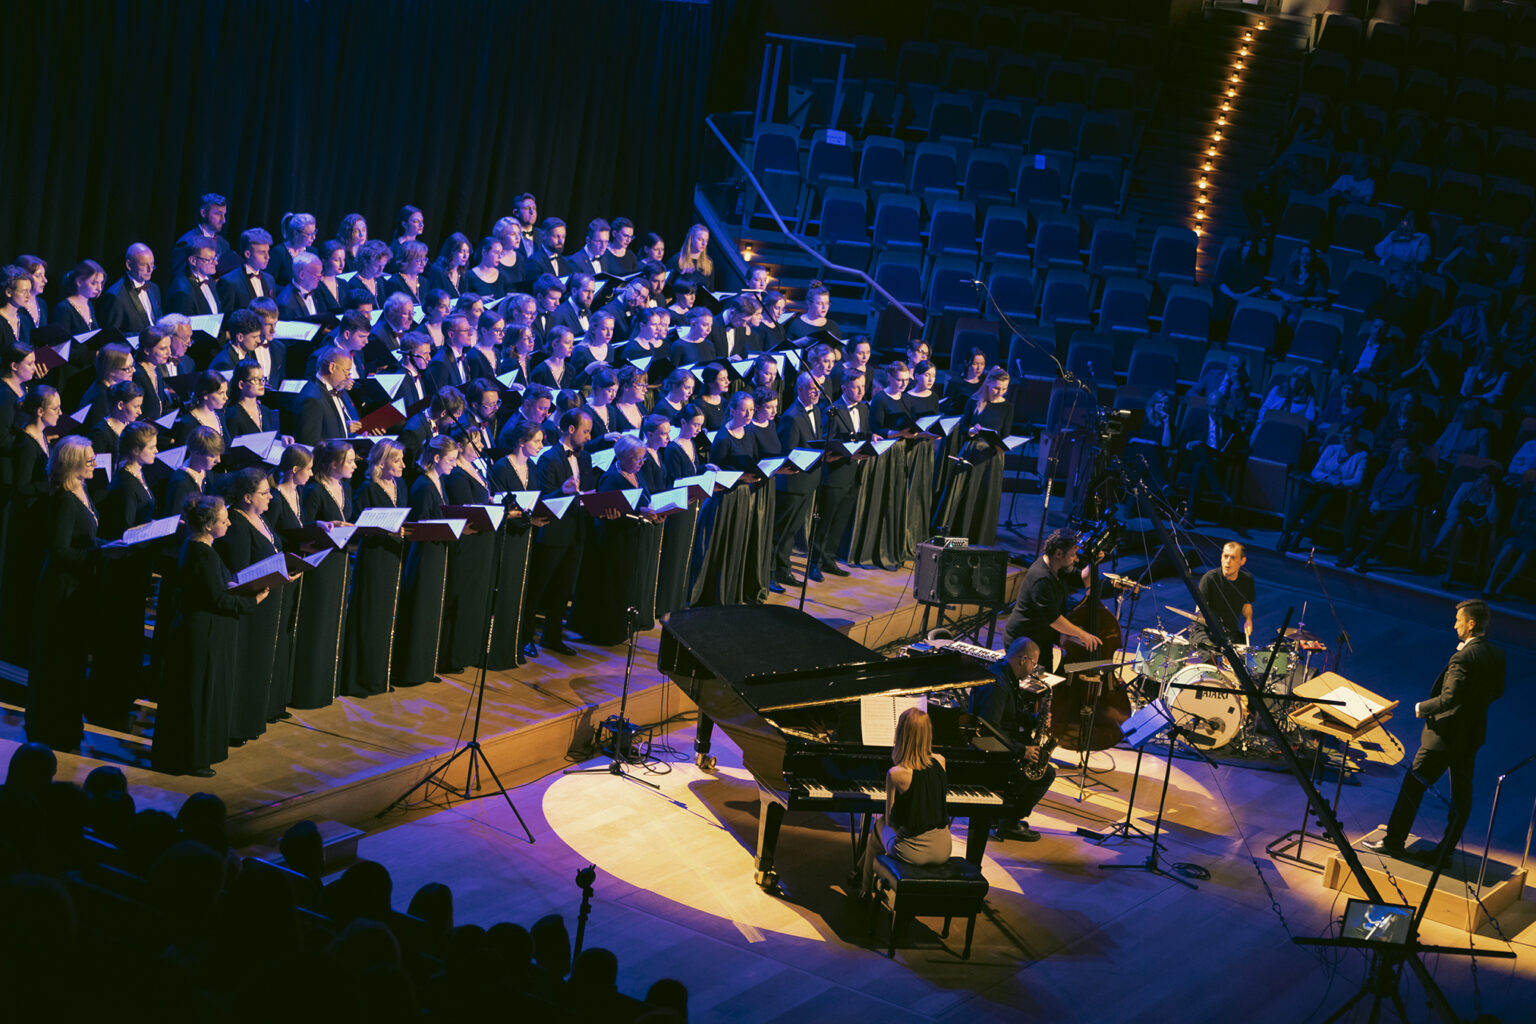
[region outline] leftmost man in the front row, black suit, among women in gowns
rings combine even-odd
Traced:
[[[544,497],[571,496],[590,491],[594,481],[591,454],[584,451],[591,439],[591,416],[579,408],[561,413],[559,442],[548,447],[538,462],[539,493]],[[637,424],[636,424],[637,425]],[[545,648],[571,656],[576,651],[565,643],[565,606],[576,586],[581,567],[585,522],[573,505],[567,513],[547,524],[533,540],[528,559],[528,597],[522,619],[524,648],[527,657],[538,657],[533,642],[535,617],[544,616],[544,631],[539,643]]]

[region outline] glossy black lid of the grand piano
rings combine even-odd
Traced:
[[[657,662],[674,676],[720,679],[762,712],[992,682],[985,666],[958,654],[882,659],[783,605],[673,613]]]

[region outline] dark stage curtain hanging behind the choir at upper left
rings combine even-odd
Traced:
[[[674,250],[693,221],[707,88],[733,3],[599,0],[58,0],[6,12],[0,259],[52,278],[121,273],[146,241],[164,281],[197,195],[229,197],[226,238],[287,210],[319,239],[350,212],[389,241],[473,241],[533,192],[568,250],[627,215]],[[49,302],[60,298],[49,286]]]

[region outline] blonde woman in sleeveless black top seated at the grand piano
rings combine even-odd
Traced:
[[[945,758],[934,754],[934,723],[920,708],[908,708],[895,723],[891,768],[885,774],[885,817],[865,844],[859,897],[874,894],[874,858],[891,852],[909,864],[949,860],[949,815]]]

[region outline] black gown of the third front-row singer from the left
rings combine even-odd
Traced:
[[[270,525],[267,527],[270,530]],[[272,557],[283,550],[283,539],[272,531],[266,537],[241,511],[229,513],[229,531],[214,542],[224,568],[243,568]],[[335,557],[335,556],[330,556]],[[272,703],[272,676],[276,671],[278,636],[283,631],[283,600],[280,586],[240,619],[238,657],[229,689],[229,737],[253,740],[267,731],[267,706]],[[284,668],[287,668],[284,665]]]

